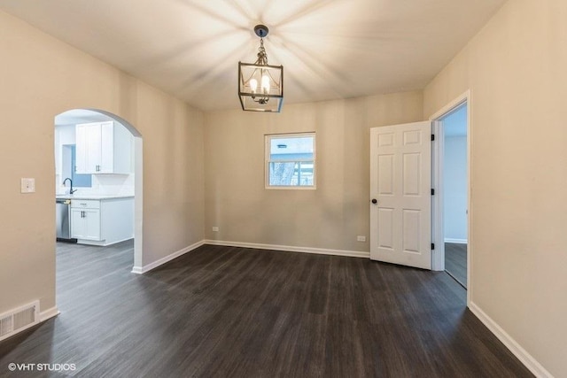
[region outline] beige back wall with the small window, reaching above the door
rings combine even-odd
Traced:
[[[369,128],[422,120],[422,104],[420,91],[207,113],[206,238],[368,252],[356,236],[369,236]],[[264,135],[307,131],[317,189],[264,189]]]

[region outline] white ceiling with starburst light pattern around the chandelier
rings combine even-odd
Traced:
[[[199,109],[239,107],[270,29],[284,104],[423,89],[505,0],[0,0],[0,9]]]

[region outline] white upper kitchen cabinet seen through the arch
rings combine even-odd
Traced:
[[[113,121],[76,125],[77,174],[131,174],[132,135]]]

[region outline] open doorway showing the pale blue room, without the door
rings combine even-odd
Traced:
[[[433,127],[435,270],[470,287],[470,96],[463,94],[436,113]]]

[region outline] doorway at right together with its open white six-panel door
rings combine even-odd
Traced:
[[[429,121],[371,128],[370,258],[447,266],[470,288],[469,189],[470,91]]]

